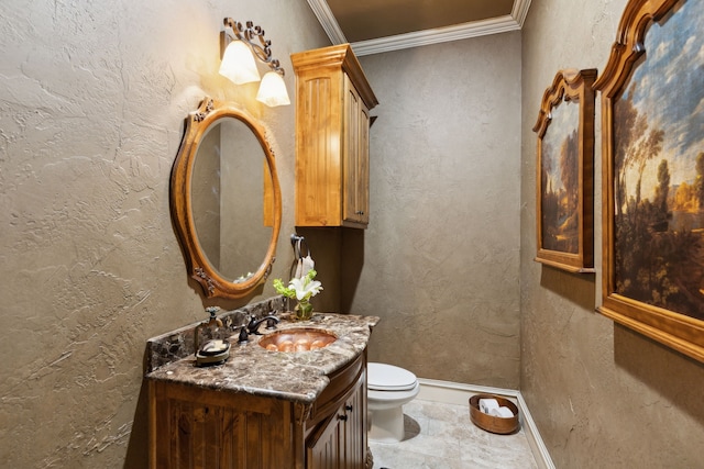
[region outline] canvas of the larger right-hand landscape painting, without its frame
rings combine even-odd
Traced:
[[[695,3],[648,31],[646,55],[614,103],[614,273],[619,294],[704,320],[704,22],[688,20],[702,18]]]

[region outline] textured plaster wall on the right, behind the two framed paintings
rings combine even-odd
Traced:
[[[700,468],[704,366],[594,311],[598,276],[542,267],[536,254],[540,100],[560,68],[606,65],[626,0],[532,0],[524,27],[521,381],[557,467]],[[601,103],[596,252],[601,269]]]

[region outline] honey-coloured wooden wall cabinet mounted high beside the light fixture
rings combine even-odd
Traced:
[[[352,47],[292,54],[296,72],[296,225],[364,228],[370,110],[378,101]]]

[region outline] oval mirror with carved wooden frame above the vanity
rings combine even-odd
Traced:
[[[188,116],[170,196],[187,269],[207,297],[241,298],[267,278],[282,197],[274,154],[257,123],[206,98]]]

